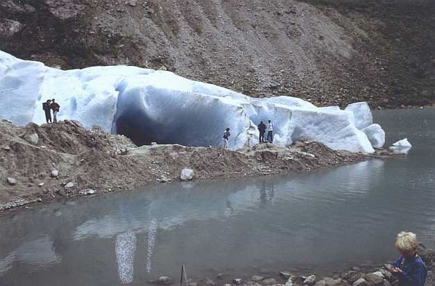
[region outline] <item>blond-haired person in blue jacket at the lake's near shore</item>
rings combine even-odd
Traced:
[[[395,248],[400,257],[393,263],[391,273],[399,278],[400,286],[423,286],[426,282],[427,267],[417,254],[418,242],[414,233],[401,232],[395,239]]]

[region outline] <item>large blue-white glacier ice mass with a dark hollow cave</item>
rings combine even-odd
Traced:
[[[172,72],[112,66],[61,70],[0,51],[0,117],[14,124],[45,123],[42,103],[56,99],[58,119],[127,135],[137,144],[219,146],[229,127],[230,149],[258,143],[257,124],[271,119],[273,142],[301,137],[332,149],[373,153],[385,133],[367,103],[345,110],[317,108],[290,96],[255,99],[191,81]]]

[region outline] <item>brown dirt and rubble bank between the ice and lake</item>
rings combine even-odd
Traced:
[[[218,147],[137,147],[127,137],[76,121],[14,126],[0,121],[0,210],[57,197],[96,194],[180,180],[266,176],[342,165],[372,156],[334,151],[317,142],[289,147],[258,144],[238,151]]]

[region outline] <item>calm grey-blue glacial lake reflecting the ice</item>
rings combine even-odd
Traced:
[[[0,285],[147,285],[180,266],[218,285],[393,260],[395,235],[435,246],[435,109],[382,110],[409,155],[287,176],[153,185],[0,216]],[[228,274],[215,278],[219,272]]]

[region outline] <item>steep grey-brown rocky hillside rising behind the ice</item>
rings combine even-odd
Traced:
[[[0,49],[63,69],[137,65],[250,96],[435,101],[433,0],[2,0]]]

